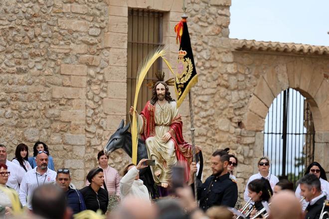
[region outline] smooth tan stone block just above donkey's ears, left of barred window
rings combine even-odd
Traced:
[[[126,100],[109,98],[103,100],[103,110],[106,114],[125,116],[128,111],[126,108]]]

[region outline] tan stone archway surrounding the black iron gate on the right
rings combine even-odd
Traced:
[[[313,57],[293,58],[292,61],[289,58],[287,62],[276,63],[274,60],[274,65],[270,67],[256,66],[262,74],[258,78],[242,122],[245,129],[257,133],[256,151],[263,151],[262,131],[265,117],[274,98],[288,88],[299,91],[311,106],[316,130],[315,160],[329,171],[329,161],[327,161],[329,157],[329,82],[326,78],[328,63]]]

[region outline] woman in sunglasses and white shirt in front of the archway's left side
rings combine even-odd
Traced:
[[[274,176],[273,174],[270,174],[270,160],[267,157],[261,157],[258,160],[258,170],[259,172],[252,175],[246,185],[246,189],[244,191],[244,201],[248,202],[249,197],[248,197],[248,184],[255,180],[255,179],[261,179],[262,177],[267,179],[270,182],[271,189],[273,191],[275,185],[279,182],[278,177]]]

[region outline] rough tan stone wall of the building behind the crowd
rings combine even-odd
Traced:
[[[195,142],[204,153],[204,177],[211,174],[211,153],[230,147],[244,191],[263,154],[268,108],[288,87],[312,104],[316,158],[328,170],[328,58],[236,51],[228,37],[230,5],[231,0],[187,0],[199,74],[192,89]],[[164,11],[164,43],[175,66],[173,26],[181,6],[180,0],[0,1],[0,143],[8,147],[8,158],[20,142],[31,154],[34,142],[44,141],[56,168],[70,168],[81,188],[97,165],[97,152],[126,117],[128,8]],[[187,100],[179,110],[190,141]],[[121,150],[109,160],[117,169],[127,162]]]

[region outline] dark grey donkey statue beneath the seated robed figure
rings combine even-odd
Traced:
[[[120,125],[116,132],[110,137],[109,141],[107,142],[104,153],[109,155],[113,151],[122,148],[130,157],[132,157],[132,135],[128,131],[130,128],[130,122],[124,126],[124,120],[122,119]],[[141,159],[148,159],[148,152],[145,145],[145,141],[142,139],[138,139],[138,146],[137,146],[137,163]],[[200,160],[200,168],[197,175],[197,179],[201,179],[202,169],[203,169],[203,157],[202,152],[198,153],[197,159]],[[153,175],[150,167],[144,168],[140,170],[140,179],[143,180],[144,185],[148,188],[149,192],[152,195],[152,198],[159,197],[159,191],[157,186],[155,186],[155,182],[153,180]]]

